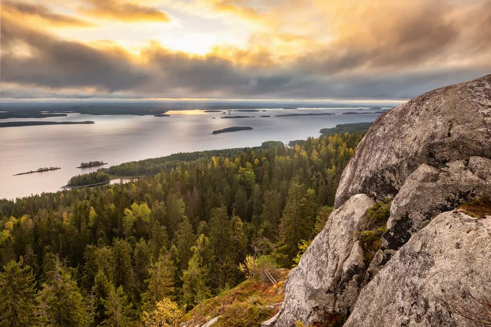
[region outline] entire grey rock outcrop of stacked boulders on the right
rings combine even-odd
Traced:
[[[491,308],[480,304],[491,303],[491,216],[454,210],[481,196],[491,198],[491,75],[421,95],[374,122],[343,172],[337,209],[263,325],[309,326],[333,315],[349,317],[346,326],[491,323]],[[374,227],[367,212],[385,197],[390,217],[368,262],[356,232]]]

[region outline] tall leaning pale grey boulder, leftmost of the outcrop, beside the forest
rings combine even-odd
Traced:
[[[285,282],[280,310],[263,326],[292,326],[300,319],[309,326],[326,314],[347,313],[365,274],[356,232],[369,228],[368,209],[375,201],[356,194],[335,210]]]

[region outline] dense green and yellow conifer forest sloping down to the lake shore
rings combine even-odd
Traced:
[[[176,154],[95,173],[153,175],[127,184],[0,200],[1,324],[174,326],[250,261],[291,268],[362,137]]]

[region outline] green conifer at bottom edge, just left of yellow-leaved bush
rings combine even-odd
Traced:
[[[123,288],[119,286],[117,289],[111,286],[109,296],[103,300],[106,319],[102,322],[102,326],[109,327],[126,327],[132,326],[133,305],[128,301],[128,297],[124,294]]]

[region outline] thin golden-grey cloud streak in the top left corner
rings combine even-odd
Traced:
[[[2,16],[7,14],[22,19],[38,19],[43,24],[49,24],[57,27],[94,27],[95,25],[81,20],[79,18],[57,14],[50,8],[28,2],[3,0],[1,2]]]

